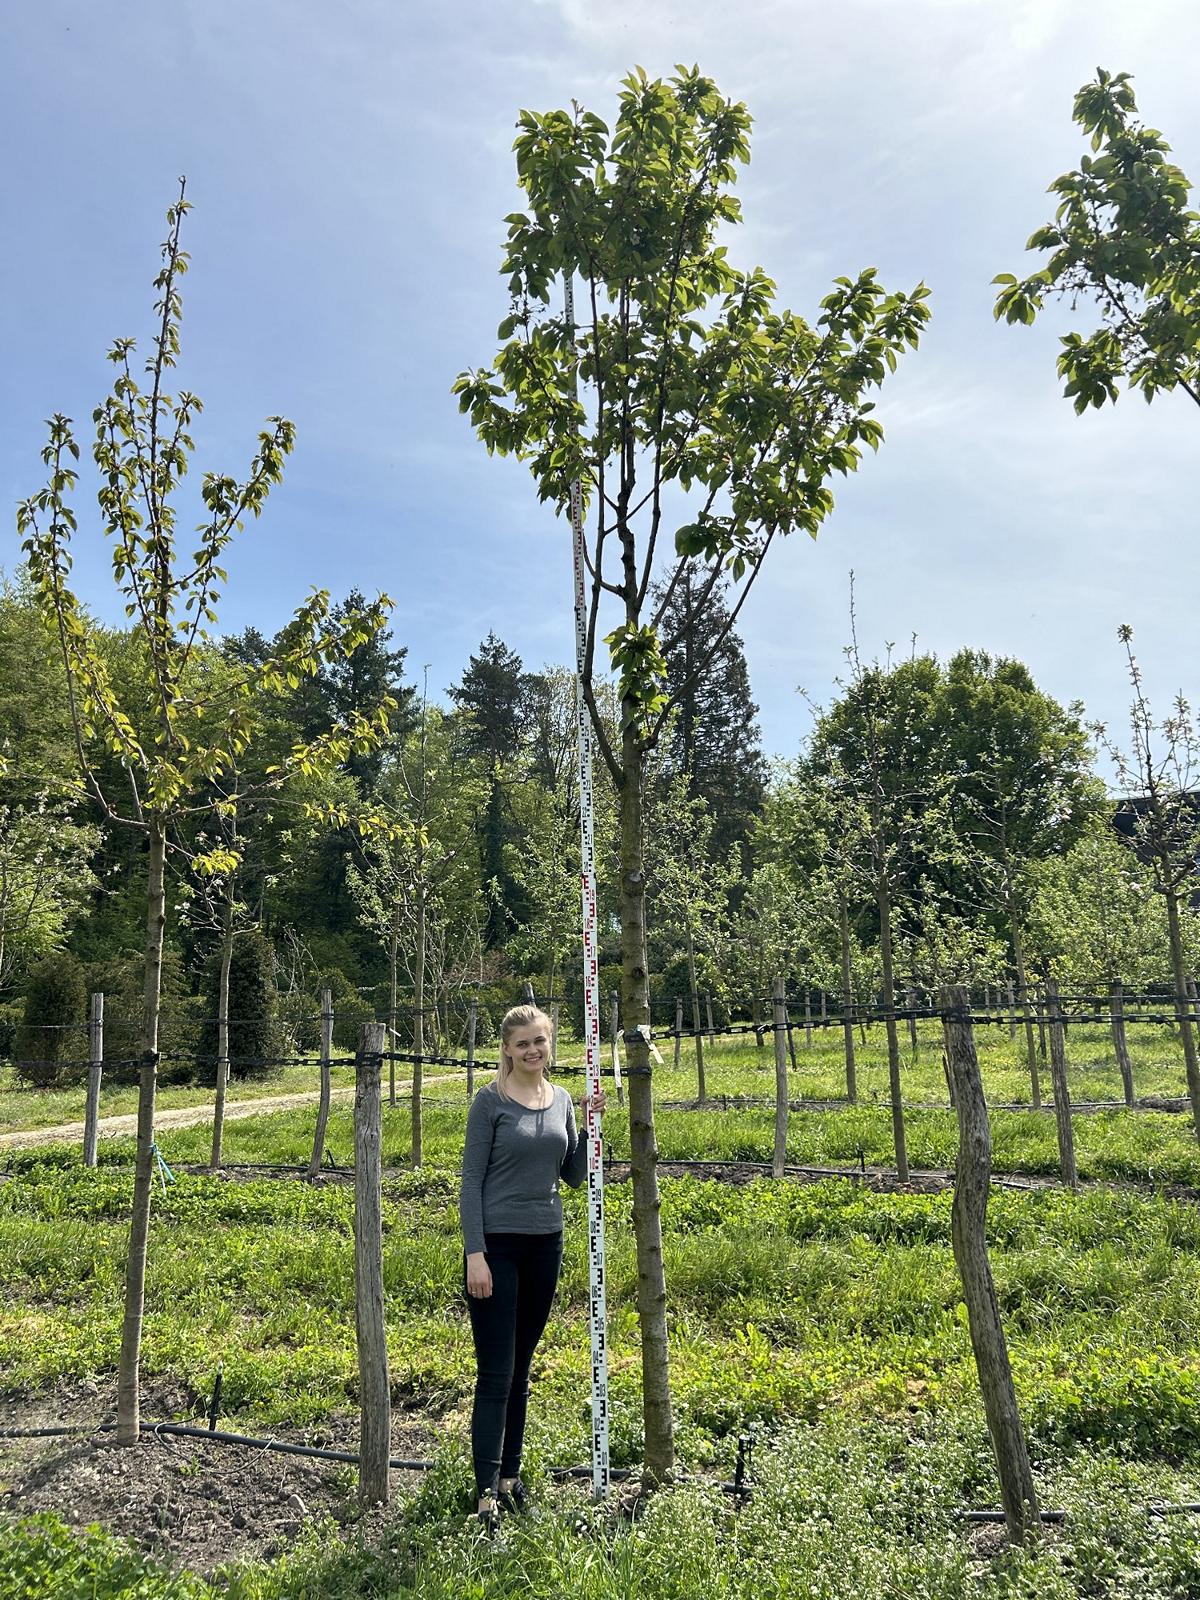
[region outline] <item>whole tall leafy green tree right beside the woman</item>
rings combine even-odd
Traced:
[[[645,765],[672,709],[661,622],[686,570],[702,614],[722,579],[746,594],[778,538],[816,534],[829,478],[853,470],[880,424],[869,394],[917,344],[926,290],[890,294],[874,270],[842,278],[816,325],[774,306],[762,269],[736,270],[718,234],[750,118],[699,70],[632,72],[611,134],[592,112],[522,112],[502,270],[512,307],[491,366],[462,373],[461,406],[488,450],[530,462],[560,514],[578,488],[587,622],[581,691],[621,806],[621,998],[630,1064],[645,1475],[674,1467],[645,926]],[[554,309],[558,277],[563,312]],[[582,325],[573,315],[581,280]],[[582,390],[582,398],[581,398]],[[672,526],[674,523],[674,526]],[[650,598],[661,547],[662,600]],[[602,603],[619,675],[621,736],[597,715]],[[720,645],[712,640],[710,651]],[[707,659],[698,661],[704,670]]]

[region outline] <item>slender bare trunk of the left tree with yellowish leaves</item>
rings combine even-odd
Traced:
[[[149,819],[149,883],[146,891],[146,982],[142,997],[142,1066],[138,1085],[138,1157],[133,1168],[130,1253],[125,1262],[125,1320],[117,1365],[117,1443],[136,1445],[141,1435],[141,1350],[146,1304],[146,1254],[150,1242],[154,1194],[154,1096],[158,1085],[158,1000],[166,926],[166,819]]]

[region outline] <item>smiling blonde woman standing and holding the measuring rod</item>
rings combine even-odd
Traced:
[[[530,1363],[563,1259],[558,1182],[578,1189],[587,1173],[571,1096],[547,1077],[552,1051],[546,1013],[514,1006],[501,1022],[499,1072],[467,1114],[459,1211],[477,1368],[470,1450],[477,1515],[488,1531],[499,1510],[525,1509]],[[594,1104],[602,1112],[605,1096]],[[582,1112],[587,1106],[579,1102]]]

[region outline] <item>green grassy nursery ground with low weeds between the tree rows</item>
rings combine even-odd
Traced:
[[[1138,1094],[1182,1094],[1171,1032],[1131,1034]],[[1027,1099],[1006,1029],[981,1032],[981,1046],[997,1107],[1018,1102],[1022,1086]],[[1120,1096],[1104,1046],[1099,1027],[1070,1029],[1078,1101]],[[538,1515],[506,1525],[496,1542],[469,1525],[472,1358],[456,1208],[466,1093],[442,1082],[429,1093],[426,1165],[416,1173],[403,1160],[408,1110],[384,1107],[394,1451],[430,1469],[397,1472],[390,1512],[355,1522],[346,1466],[306,1462],[296,1490],[283,1458],[251,1458],[270,1466],[246,1470],[234,1448],[174,1454],[170,1442],[147,1438],[125,1453],[77,1438],[0,1440],[0,1597],[1200,1594],[1200,1517],[1149,1514],[1200,1501],[1200,1210],[1187,1192],[1200,1189],[1200,1146],[1190,1118],[1115,1104],[1080,1114],[1082,1192],[994,1192],[994,1267],[1042,1504],[1067,1514],[1040,1549],[1010,1550],[998,1528],[963,1515],[998,1498],[950,1251],[949,1187],[899,1190],[882,1176],[853,1176],[890,1160],[882,1029],[867,1035],[856,1107],[790,1115],[789,1162],[848,1170],[819,1181],[741,1168],[734,1182],[718,1173],[717,1163],[770,1160],[773,1112],[690,1109],[690,1050],[685,1040],[678,1072],[669,1046],[656,1069],[664,1162],[710,1163],[667,1168],[661,1184],[678,1486],[630,1515],[619,1491],[592,1507],[584,1486],[550,1472],[587,1459],[576,1194],[566,1197],[560,1306],[534,1368],[526,1475]],[[570,1048],[563,1054],[568,1067]],[[811,1051],[798,1035],[797,1064],[794,1099],[835,1099],[838,1034],[818,1035]],[[710,1040],[707,1066],[710,1096],[773,1093],[770,1034],[763,1051],[746,1037]],[[933,1029],[904,1086],[914,1168],[952,1166],[954,1117]],[[5,1091],[3,1104],[21,1093]],[[53,1120],[62,1120],[58,1110]],[[613,1459],[635,1467],[635,1259],[619,1166],[626,1114],[614,1096],[605,1122],[614,1163]],[[1056,1173],[1053,1115],[997,1109],[992,1122],[1000,1171]],[[174,1182],[155,1194],[150,1240],[152,1418],[203,1422],[221,1368],[222,1429],[354,1448],[352,1190],[336,1170],[317,1186],[267,1170],[307,1162],[312,1123],[309,1107],[230,1123],[230,1170],[216,1176],[192,1170],[208,1158],[205,1126],[163,1131]],[[328,1144],[349,1163],[349,1107],[334,1107]],[[131,1154],[131,1141],[106,1139],[96,1171],[66,1147],[3,1158],[2,1427],[56,1416],[91,1422],[110,1410]],[[747,1432],[752,1493],[738,1501],[723,1485]],[[134,1502],[149,1478],[123,1466],[130,1456],[166,1462],[144,1517]],[[98,1488],[114,1474],[126,1483],[120,1496]],[[272,1520],[254,1475],[304,1509]],[[214,1518],[224,1518],[216,1531]],[[90,1522],[104,1526],[86,1530]],[[194,1538],[202,1523],[210,1536]],[[222,1566],[230,1552],[238,1562]]]

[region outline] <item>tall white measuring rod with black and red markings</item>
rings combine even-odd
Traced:
[[[574,334],[574,293],[563,274],[566,326]],[[592,730],[584,701],[587,664],[587,590],[584,573],[584,504],[579,480],[571,483],[574,544],[574,709],[579,736],[579,843],[584,912],[584,1070],[587,1093],[600,1093],[600,962],[595,917],[595,840],[592,837]],[[608,1310],[605,1306],[605,1155],[600,1114],[587,1107],[587,1286],[592,1326],[592,1493],[608,1493]]]

